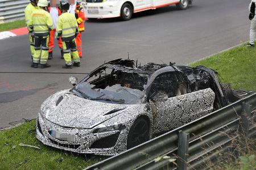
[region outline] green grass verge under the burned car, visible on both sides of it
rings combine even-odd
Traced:
[[[255,62],[256,48],[243,45],[191,65],[217,70],[222,82],[231,83],[233,88],[256,91]],[[19,143],[38,146],[40,150],[22,147]],[[35,121],[0,131],[0,148],[0,169],[82,169],[100,158],[42,145],[36,139]]]

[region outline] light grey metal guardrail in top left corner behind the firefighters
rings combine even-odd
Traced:
[[[0,23],[24,19],[28,0],[0,0]]]

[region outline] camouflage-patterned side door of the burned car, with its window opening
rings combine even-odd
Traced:
[[[183,83],[179,82],[175,72],[168,76],[159,75],[152,83],[150,95],[166,96],[166,99],[150,96],[154,134],[178,128],[212,112],[214,92],[207,88],[186,94]],[[155,86],[158,87],[157,90]]]

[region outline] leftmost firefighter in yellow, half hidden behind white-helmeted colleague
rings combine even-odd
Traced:
[[[30,3],[27,5],[25,8],[25,20],[26,20],[26,25],[28,28],[28,23],[31,20],[31,15],[32,12],[37,8],[36,3],[38,3],[38,0],[30,0]],[[30,29],[28,28],[28,31]],[[28,33],[29,39],[30,39],[30,52],[31,52],[31,58],[33,59],[34,53],[35,53],[35,41],[34,41],[34,35],[32,32]]]

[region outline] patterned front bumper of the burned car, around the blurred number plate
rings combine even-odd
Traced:
[[[75,141],[65,141],[53,137],[49,131],[75,137]],[[44,145],[77,152],[113,156],[126,150],[127,130],[115,130],[104,133],[92,133],[93,129],[67,128],[46,120],[38,115],[36,121],[36,138]]]

